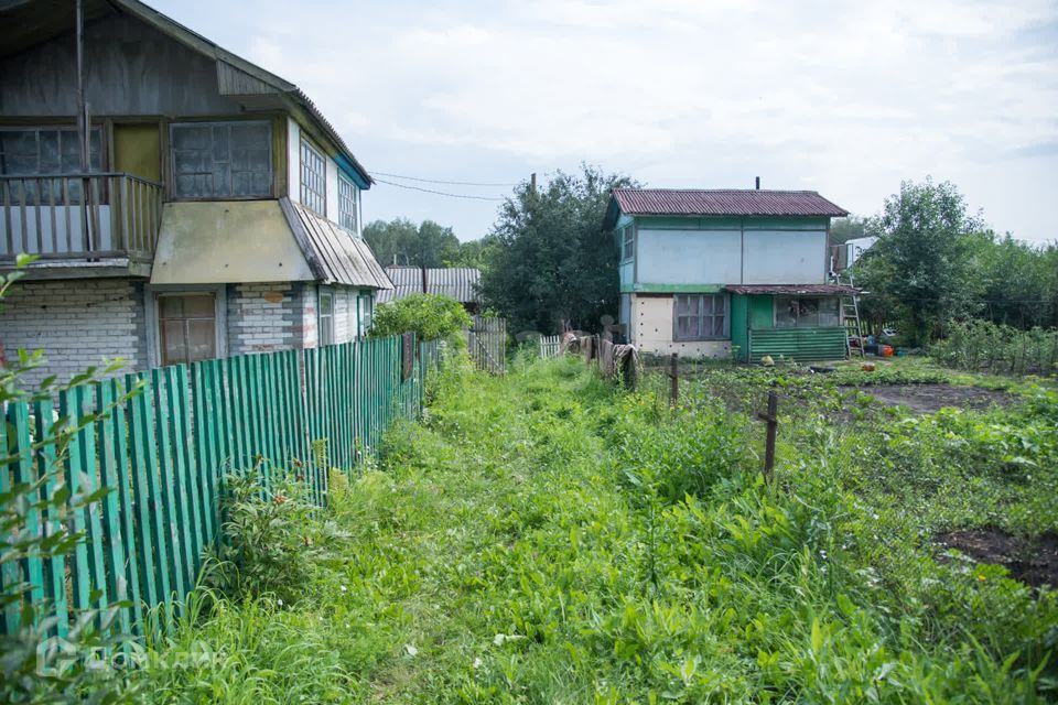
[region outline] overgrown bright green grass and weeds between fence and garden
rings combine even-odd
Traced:
[[[719,373],[747,405],[766,389]],[[1052,475],[1058,400],[865,427],[828,410],[868,402],[812,387],[764,486],[759,424],[712,389],[689,383],[673,410],[575,359],[520,359],[503,379],[450,370],[424,421],[395,429],[336,502],[339,558],[302,599],[204,593],[134,679],[170,702],[1058,696],[1055,594],[938,561],[931,532],[979,520],[958,511],[972,494],[933,491],[924,511],[903,491],[950,490],[953,464],[960,481],[1032,482],[1010,452],[1030,424],[1038,448],[1018,457]],[[1017,527],[1049,529],[1056,495],[1039,495]]]

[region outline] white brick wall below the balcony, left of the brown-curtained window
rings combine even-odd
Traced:
[[[117,279],[20,281],[0,311],[0,340],[8,360],[19,348],[43,349],[46,365],[26,376],[66,381],[104,358],[121,357],[125,371],[147,366],[143,285]]]

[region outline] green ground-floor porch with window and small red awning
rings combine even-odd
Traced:
[[[765,355],[776,361],[844,359],[848,334],[841,299],[731,291],[731,343],[738,359],[747,362],[759,362]]]

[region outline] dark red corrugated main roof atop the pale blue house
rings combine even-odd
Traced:
[[[615,188],[629,216],[827,216],[849,212],[814,191]]]

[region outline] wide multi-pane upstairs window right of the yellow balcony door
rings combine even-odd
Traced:
[[[170,128],[176,198],[259,198],[272,194],[272,126],[184,122]]]

